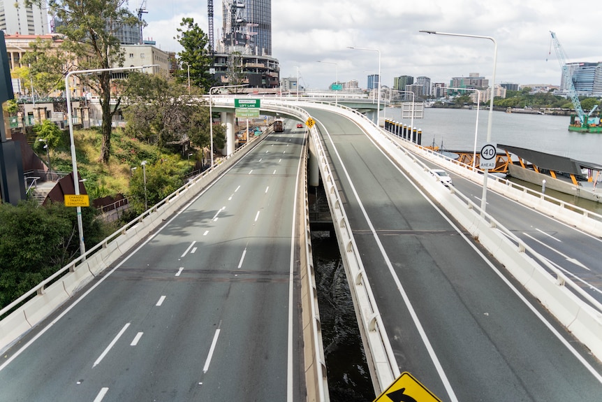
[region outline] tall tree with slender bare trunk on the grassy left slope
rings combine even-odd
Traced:
[[[28,1],[45,6],[43,0]],[[57,31],[65,36],[63,48],[77,57],[79,70],[123,66],[124,55],[116,36],[117,31],[122,27],[137,27],[143,23],[128,10],[127,0],[48,0],[48,8],[52,15],[61,20]],[[112,117],[119,110],[121,97],[117,96],[113,107],[110,71],[79,78],[87,80],[100,97],[103,140],[99,159],[107,164],[111,150]]]

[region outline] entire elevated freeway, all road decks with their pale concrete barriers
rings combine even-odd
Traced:
[[[321,181],[375,396],[409,372],[441,401],[600,400],[601,221],[498,179],[479,211],[479,173],[340,105],[261,102],[284,133],[1,322],[0,399],[329,401],[307,214]]]

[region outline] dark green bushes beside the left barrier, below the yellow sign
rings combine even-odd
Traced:
[[[82,208],[86,247],[108,236],[94,208]],[[0,204],[0,307],[78,257],[75,208],[34,201]]]

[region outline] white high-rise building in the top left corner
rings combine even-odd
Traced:
[[[46,8],[25,6],[25,0],[0,0],[0,30],[6,35],[46,35],[50,31]]]

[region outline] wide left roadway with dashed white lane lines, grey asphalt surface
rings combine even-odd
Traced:
[[[0,400],[304,401],[303,143],[265,138],[8,350]]]

